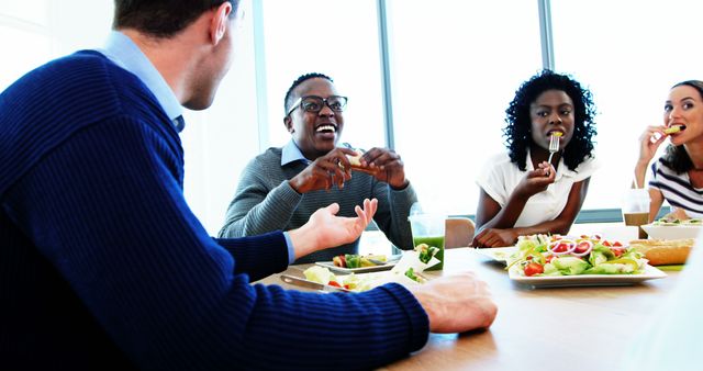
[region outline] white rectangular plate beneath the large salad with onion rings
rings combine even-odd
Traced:
[[[610,286],[635,284],[647,280],[656,280],[667,277],[667,273],[649,265],[645,266],[641,274],[578,274],[578,276],[547,276],[525,277],[511,270],[510,279],[535,288],[555,286]]]

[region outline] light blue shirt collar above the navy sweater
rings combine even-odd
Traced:
[[[161,104],[164,112],[174,122],[176,128],[179,132],[183,130],[185,122],[181,117],[183,109],[176,94],[164,80],[161,74],[130,37],[119,31],[112,31],[104,49],[98,49],[98,52],[102,53],[115,65],[136,75],[156,97],[156,100]]]

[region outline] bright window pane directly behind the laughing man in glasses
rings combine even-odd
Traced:
[[[300,75],[322,72],[349,98],[342,142],[383,147],[383,111],[375,0],[264,1],[268,132],[271,146],[290,140],[283,98]]]

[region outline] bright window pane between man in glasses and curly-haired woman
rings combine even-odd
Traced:
[[[542,68],[536,1],[389,1],[397,151],[424,209],[473,214],[504,112]]]

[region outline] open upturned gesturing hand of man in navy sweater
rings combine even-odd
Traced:
[[[359,238],[366,226],[373,218],[378,209],[378,200],[364,200],[364,209],[357,205],[356,217],[336,216],[339,204],[315,211],[308,223],[289,232],[295,250],[295,259],[321,250],[352,243]]]

